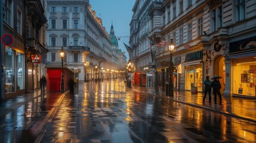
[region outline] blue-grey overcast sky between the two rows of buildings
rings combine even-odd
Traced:
[[[129,45],[129,23],[131,22],[134,3],[135,0],[90,0],[91,9],[96,12],[97,17],[101,18],[107,33],[110,32],[113,20],[115,36],[120,38],[118,41],[119,48],[125,52],[127,61],[129,57],[124,43]]]

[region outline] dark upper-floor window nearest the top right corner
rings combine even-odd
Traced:
[[[236,21],[245,19],[245,0],[236,0]]]

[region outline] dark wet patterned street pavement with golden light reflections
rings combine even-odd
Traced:
[[[79,83],[75,97],[39,97],[1,107],[8,110],[0,142],[256,141],[255,122],[127,89],[122,80]]]

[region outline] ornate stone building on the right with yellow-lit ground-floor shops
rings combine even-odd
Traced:
[[[149,39],[156,51],[159,88],[168,81],[167,45],[172,39],[175,89],[203,92],[206,76],[221,76],[221,94],[255,98],[255,4],[254,0],[153,2]]]

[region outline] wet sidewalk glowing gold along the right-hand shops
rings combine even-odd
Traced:
[[[237,117],[239,119],[256,122],[256,100],[240,97],[223,97],[222,105],[219,103],[217,97],[217,105],[214,105],[214,95],[212,94],[212,105],[209,105],[209,96],[205,98],[205,105],[203,105],[203,93],[192,94],[190,91],[174,91],[174,97],[168,97],[165,92],[154,91],[153,88],[145,88],[140,86],[132,86],[132,90],[146,92],[168,98],[169,100],[181,102],[183,104],[192,105],[207,110],[216,111],[218,113],[227,114],[229,116]]]

